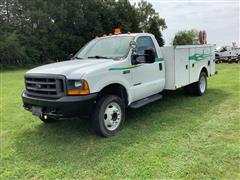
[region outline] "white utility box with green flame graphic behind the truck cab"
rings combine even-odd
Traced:
[[[198,81],[203,68],[215,74],[214,45],[162,47],[165,61],[165,89],[174,90]]]

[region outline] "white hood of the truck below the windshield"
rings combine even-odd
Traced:
[[[90,70],[106,67],[113,63],[112,59],[69,60],[39,66],[27,71],[26,74],[58,74],[66,77],[77,74],[81,78],[84,73]]]

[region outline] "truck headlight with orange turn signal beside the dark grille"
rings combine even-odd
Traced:
[[[68,80],[67,95],[86,95],[90,94],[90,89],[86,80]]]

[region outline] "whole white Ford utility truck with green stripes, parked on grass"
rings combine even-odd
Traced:
[[[160,48],[148,33],[95,38],[71,60],[27,71],[23,106],[45,123],[90,115],[93,129],[108,137],[123,127],[127,107],[159,100],[163,90],[203,95],[215,74],[214,49]]]

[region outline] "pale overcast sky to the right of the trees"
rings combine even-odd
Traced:
[[[170,45],[179,30],[206,30],[208,43],[239,46],[239,0],[147,0],[168,28],[163,31],[166,45]],[[130,0],[131,3],[138,0]]]

